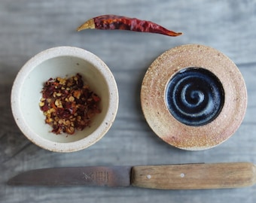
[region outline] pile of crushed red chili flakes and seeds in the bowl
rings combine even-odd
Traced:
[[[56,135],[73,135],[75,130],[90,126],[91,119],[100,113],[100,98],[89,89],[81,77],[50,78],[44,83],[39,106],[44,112],[45,123]]]

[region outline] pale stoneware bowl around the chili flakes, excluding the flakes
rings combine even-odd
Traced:
[[[39,108],[41,90],[50,78],[81,74],[90,89],[101,98],[90,127],[74,135],[55,135],[45,124]],[[20,69],[11,91],[11,109],[17,126],[39,147],[54,152],[73,152],[101,139],[117,114],[118,91],[113,74],[99,57],[78,47],[53,47],[38,53]]]

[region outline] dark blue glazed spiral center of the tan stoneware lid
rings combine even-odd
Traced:
[[[176,120],[187,126],[203,126],[215,120],[221,112],[224,89],[211,71],[184,68],[169,81],[165,98]]]

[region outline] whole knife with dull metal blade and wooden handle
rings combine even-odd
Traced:
[[[253,186],[250,162],[41,168],[8,180],[26,186],[138,186],[151,189],[221,189]]]

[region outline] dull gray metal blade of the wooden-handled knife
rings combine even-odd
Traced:
[[[9,185],[26,186],[130,186],[130,166],[87,166],[41,168],[8,180]]]

